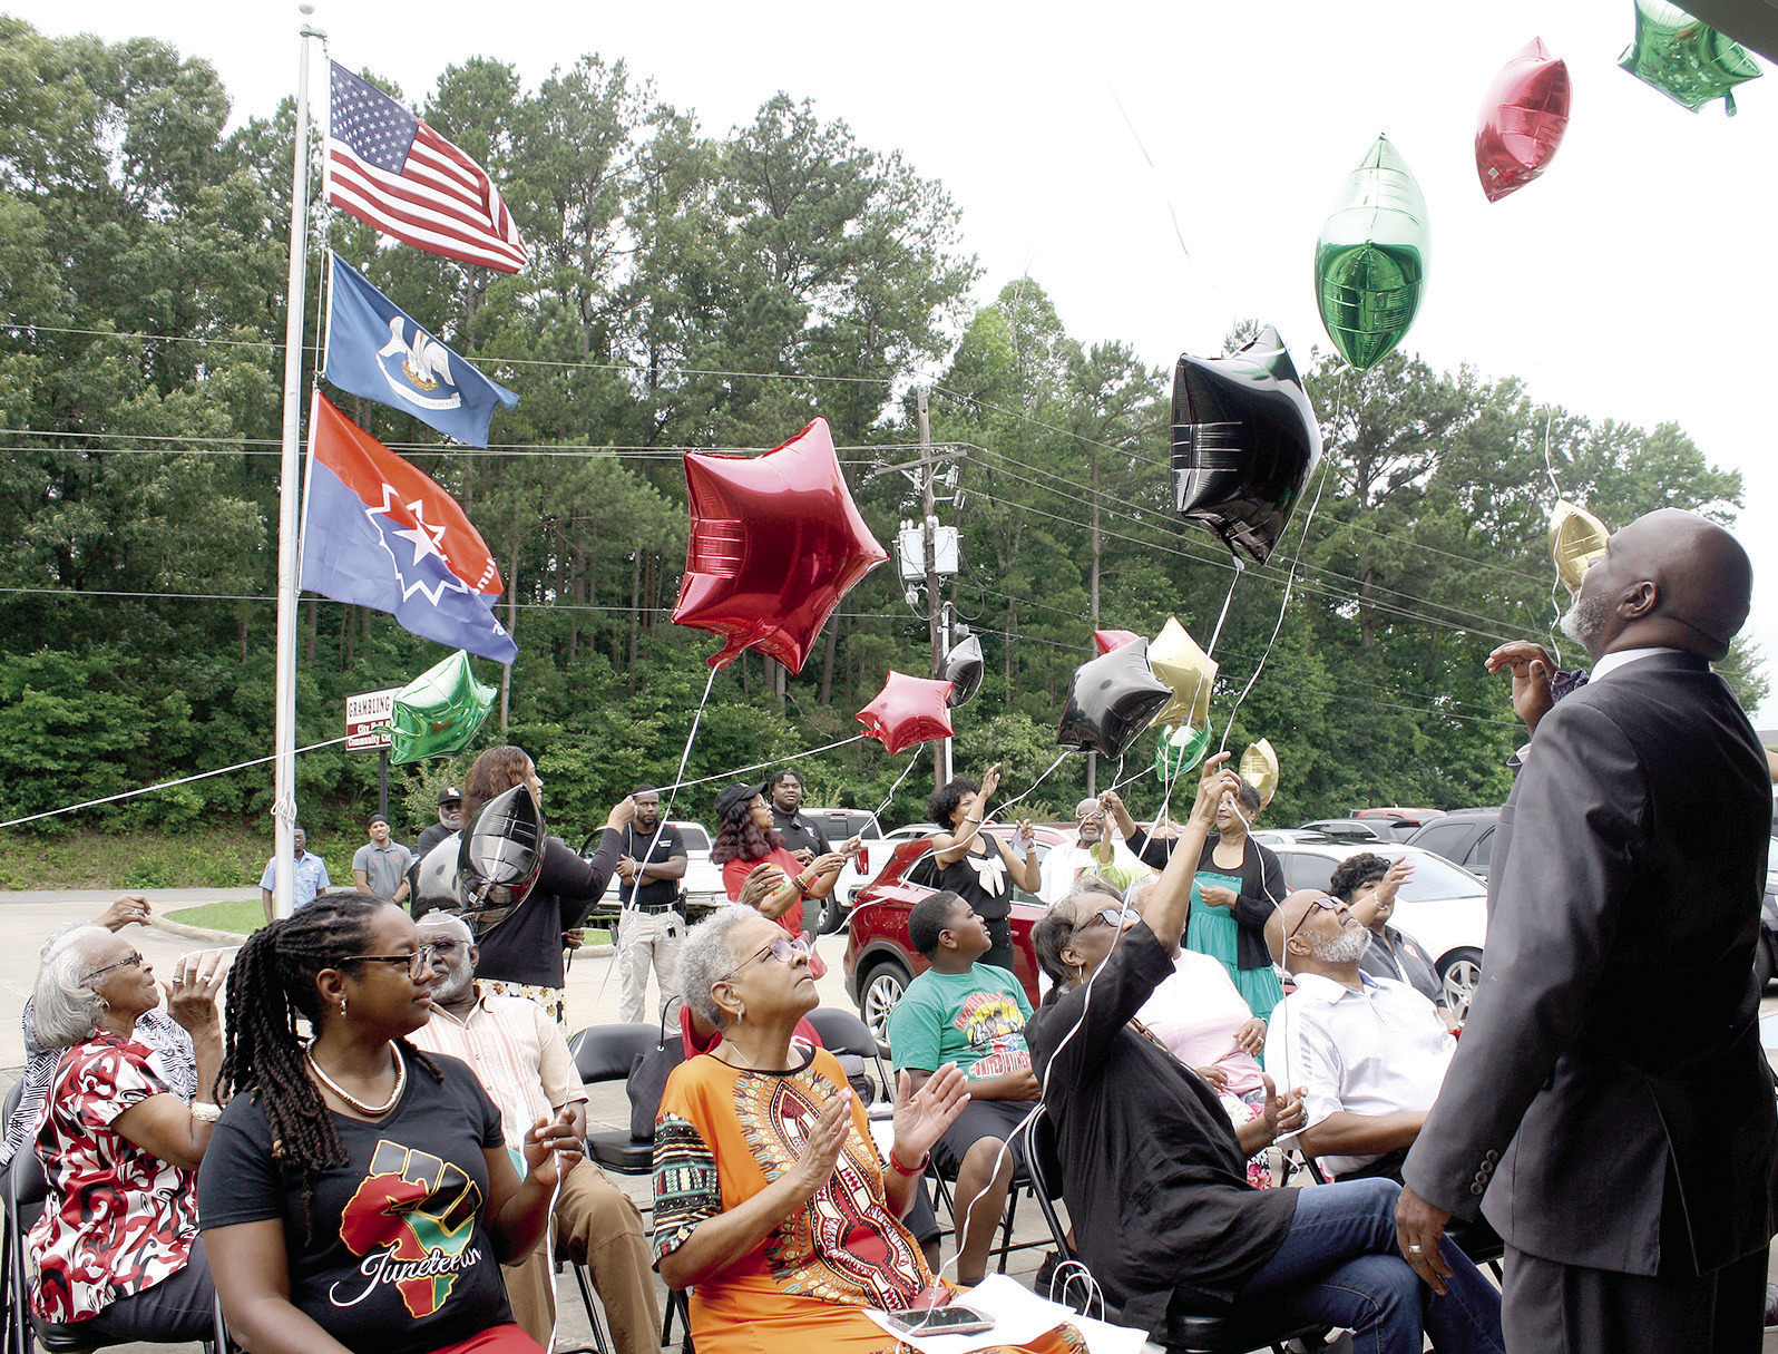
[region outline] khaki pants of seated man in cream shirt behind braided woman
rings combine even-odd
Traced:
[[[555,1247],[592,1272],[617,1354],[658,1354],[660,1299],[642,1213],[592,1162],[580,1162],[557,1190]],[[546,1350],[555,1334],[555,1270],[549,1245],[501,1269],[512,1317]]]

